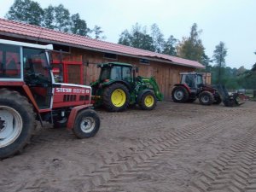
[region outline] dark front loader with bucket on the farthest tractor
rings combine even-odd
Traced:
[[[218,90],[225,107],[237,107],[244,103],[239,101],[237,93],[230,95],[223,84],[218,84],[216,89]]]

